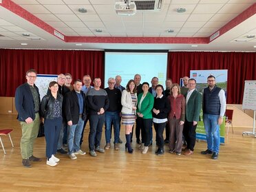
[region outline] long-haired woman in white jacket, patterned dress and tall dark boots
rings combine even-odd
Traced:
[[[136,119],[137,94],[136,85],[132,79],[127,83],[126,89],[122,91],[121,104],[122,125],[125,125],[125,151],[128,149],[128,153],[133,153],[134,149],[131,148],[131,130]]]

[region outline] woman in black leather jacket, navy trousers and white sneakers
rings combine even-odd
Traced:
[[[41,102],[41,115],[44,119],[46,141],[46,164],[55,166],[60,160],[54,156],[57,153],[58,136],[62,125],[63,96],[58,94],[58,83],[49,84],[50,93],[43,97]]]

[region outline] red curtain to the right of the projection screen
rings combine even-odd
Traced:
[[[244,81],[256,80],[255,52],[169,52],[167,76],[174,83],[190,70],[228,70],[227,103],[242,104]]]

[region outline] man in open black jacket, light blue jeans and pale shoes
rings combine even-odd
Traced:
[[[82,89],[82,81],[74,82],[74,90],[65,95],[65,117],[67,119],[67,145],[72,160],[76,155],[85,155],[80,149],[81,132],[86,118],[86,100]]]

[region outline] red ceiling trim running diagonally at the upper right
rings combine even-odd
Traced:
[[[243,21],[245,21],[249,17],[252,17],[254,14],[256,14],[256,3],[254,3],[252,6],[250,6],[246,10],[244,10],[242,13],[237,15],[237,17],[235,17],[234,19],[232,19],[231,21],[226,23],[226,25],[224,25],[222,28],[220,28],[220,30],[218,30],[218,31],[220,31],[219,36],[228,32],[232,28],[235,28],[235,26],[239,25],[240,23],[242,23]],[[215,32],[213,34],[215,34]],[[213,39],[213,40],[215,40],[215,39]],[[209,36],[209,41],[210,41],[210,36]]]

